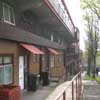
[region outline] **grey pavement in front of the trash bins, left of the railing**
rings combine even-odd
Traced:
[[[52,82],[49,86],[39,87],[35,92],[23,91],[21,93],[21,100],[45,100],[57,85],[58,83]]]

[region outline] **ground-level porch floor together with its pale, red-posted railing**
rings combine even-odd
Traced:
[[[82,83],[81,73],[78,73],[71,81],[64,83],[51,83],[36,92],[22,93],[22,100],[81,100]]]

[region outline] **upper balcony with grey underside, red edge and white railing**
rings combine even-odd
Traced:
[[[61,33],[66,41],[72,42],[75,37],[75,27],[62,1],[59,0],[7,0],[20,16],[26,11],[36,17],[39,24],[47,26],[55,33]]]

